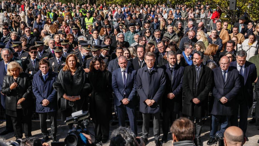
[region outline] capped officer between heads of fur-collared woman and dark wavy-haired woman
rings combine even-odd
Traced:
[[[86,68],[87,58],[92,57],[89,55],[89,52],[91,51],[91,45],[88,43],[81,43],[81,51],[77,53],[74,53],[77,56],[77,62],[80,63],[81,67],[83,69]]]

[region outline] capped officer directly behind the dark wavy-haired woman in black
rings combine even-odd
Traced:
[[[95,57],[100,57],[103,59],[104,63],[106,64],[106,66],[108,66],[108,63],[110,61],[109,57],[103,57],[102,55],[100,55],[100,48],[102,46],[100,45],[91,45],[91,52],[92,52],[92,56],[90,58],[87,58],[87,63],[86,63],[86,70],[85,72],[89,72],[89,67],[90,67],[90,62],[92,61],[93,58]]]

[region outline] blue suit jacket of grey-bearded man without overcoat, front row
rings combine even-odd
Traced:
[[[138,99],[136,97],[136,71],[130,68],[127,68],[127,82],[126,87],[124,87],[123,78],[121,74],[121,69],[118,68],[112,73],[112,89],[115,94],[113,103],[116,106],[121,105],[121,100],[124,98],[124,93],[126,98],[130,99],[130,103],[126,106],[134,108],[138,104]]]

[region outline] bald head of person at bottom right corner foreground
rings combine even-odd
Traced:
[[[224,132],[225,146],[242,146],[246,142],[243,131],[236,126],[228,127]]]

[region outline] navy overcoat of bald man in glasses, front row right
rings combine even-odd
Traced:
[[[235,98],[240,90],[239,72],[231,67],[228,68],[226,82],[224,83],[222,70],[220,67],[212,70],[214,73],[214,84],[212,95],[214,96],[213,115],[233,115]],[[220,102],[221,97],[226,97],[228,102]]]

